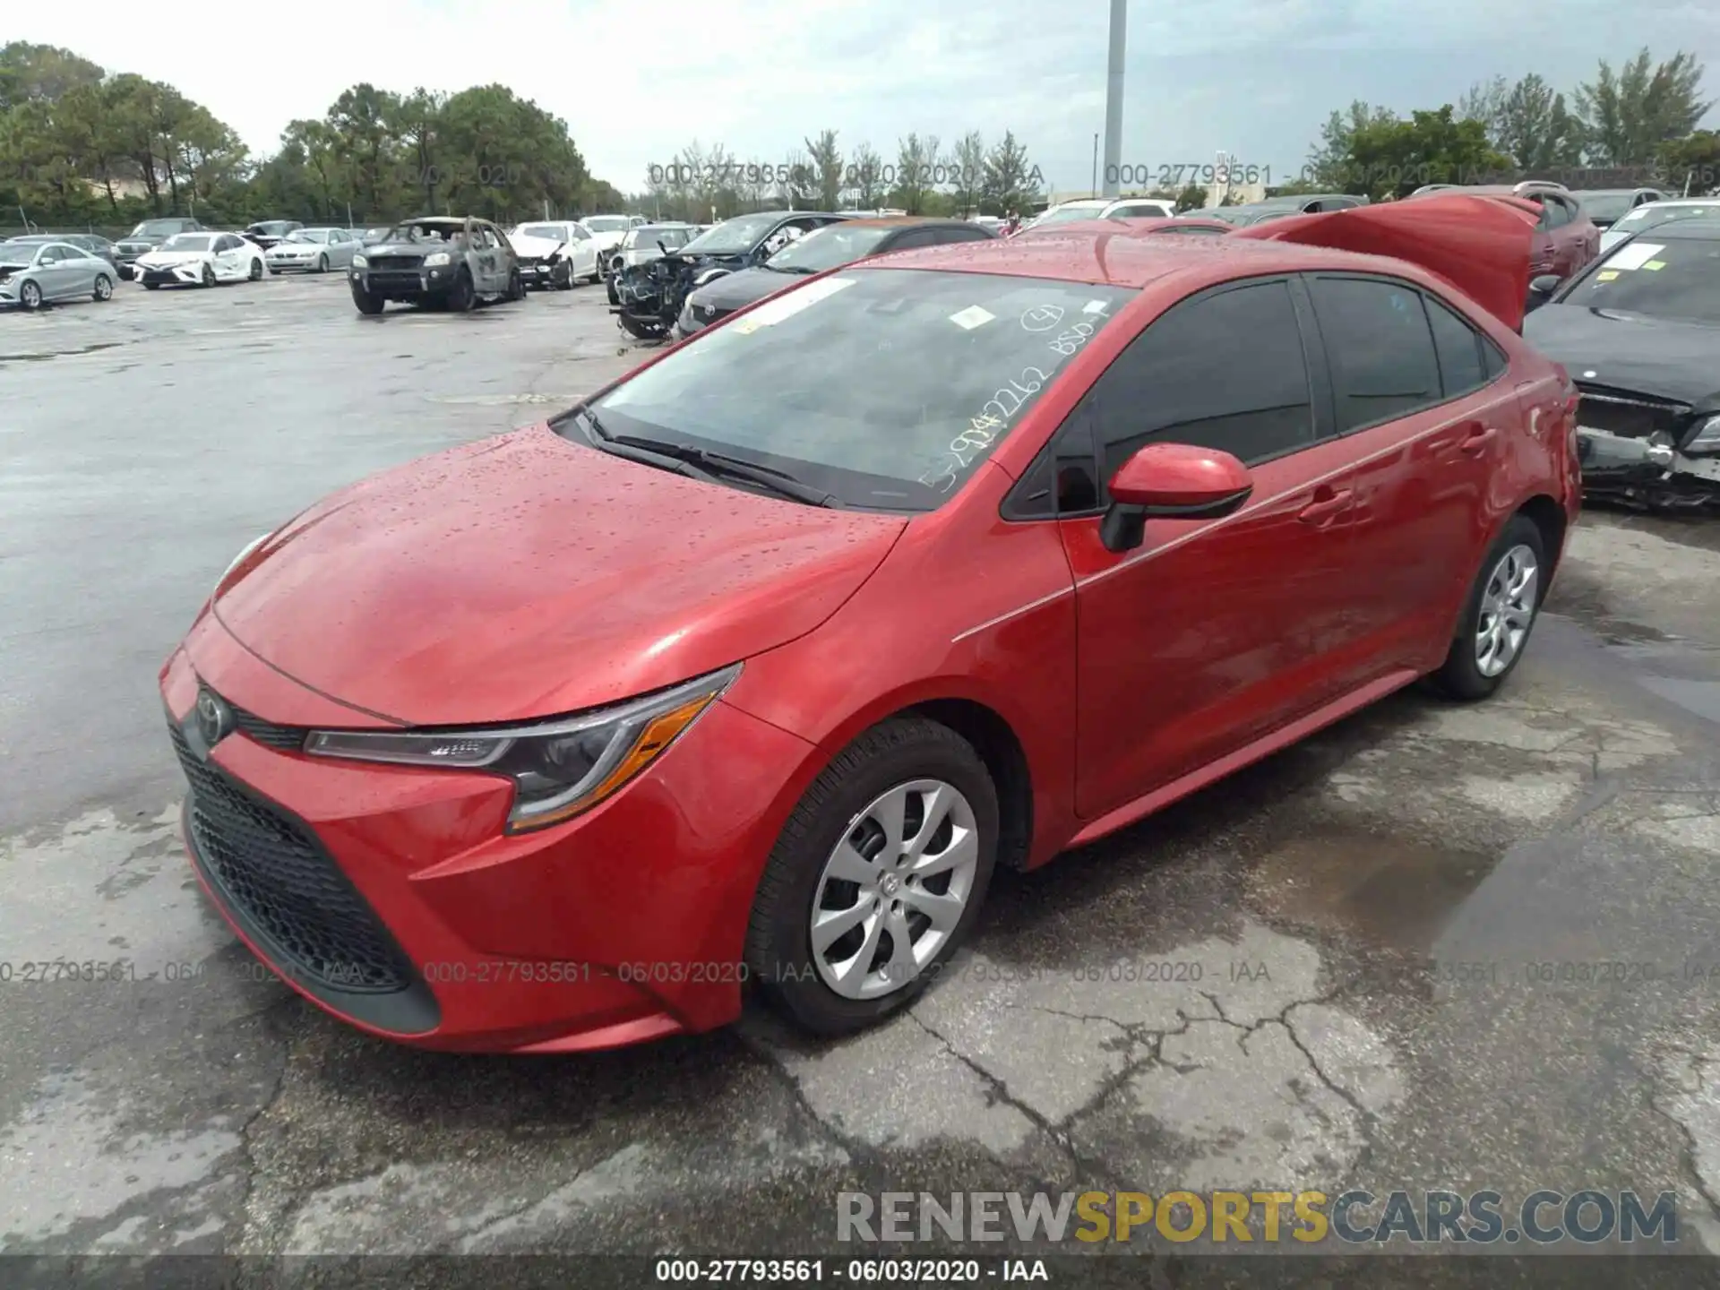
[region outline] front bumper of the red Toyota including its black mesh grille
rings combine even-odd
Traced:
[[[509,836],[513,784],[497,776],[308,757],[253,724],[208,748],[201,686],[287,726],[375,722],[273,673],[208,614],[162,669],[196,877],[320,1008],[399,1042],[509,1053],[740,1015],[753,889],[810,745],[717,702],[602,805]]]

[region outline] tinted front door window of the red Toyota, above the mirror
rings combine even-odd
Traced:
[[[1235,356],[1247,354],[1238,370]],[[1111,478],[1144,444],[1197,444],[1245,463],[1314,440],[1314,409],[1290,287],[1262,282],[1178,304],[1125,349],[1082,399]]]

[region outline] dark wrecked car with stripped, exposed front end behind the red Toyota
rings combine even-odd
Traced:
[[[736,215],[702,232],[686,246],[642,265],[623,267],[616,279],[616,315],[621,330],[640,341],[669,335],[688,292],[738,268],[752,268],[791,241],[826,224],[846,218],[815,210],[765,210]]]

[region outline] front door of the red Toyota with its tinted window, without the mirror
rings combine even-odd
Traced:
[[[1135,550],[1063,519],[1077,585],[1077,810],[1094,819],[1330,702],[1350,630],[1350,447],[1330,433],[1305,292],[1226,284],[1161,315],[1065,430],[1103,482],[1149,442],[1218,447],[1254,492],[1223,519],[1154,519]],[[1099,506],[1104,497],[1099,497]]]

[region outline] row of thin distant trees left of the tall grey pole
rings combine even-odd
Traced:
[[[707,224],[752,210],[903,210],[908,215],[1008,215],[1042,203],[1046,181],[1027,148],[1004,131],[979,131],[948,148],[936,134],[908,134],[893,153],[870,143],[843,148],[826,129],[779,162],[740,160],[724,144],[693,139],[645,167],[631,212]]]

